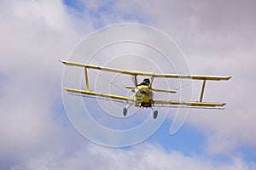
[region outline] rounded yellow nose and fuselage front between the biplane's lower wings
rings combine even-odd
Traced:
[[[139,85],[135,89],[135,105],[137,107],[151,107],[152,105],[152,90],[147,85]]]

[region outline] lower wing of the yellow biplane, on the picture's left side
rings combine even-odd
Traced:
[[[119,96],[119,95],[113,95],[113,94],[101,94],[101,93],[97,93],[97,92],[79,90],[79,89],[74,89],[74,88],[64,88],[64,89],[67,90],[67,92],[74,93],[74,94],[86,94],[86,95],[93,95],[93,96],[98,96],[98,97],[103,97],[103,98],[119,99],[119,100],[123,100],[123,101],[133,101],[133,99],[130,99],[125,96]]]

